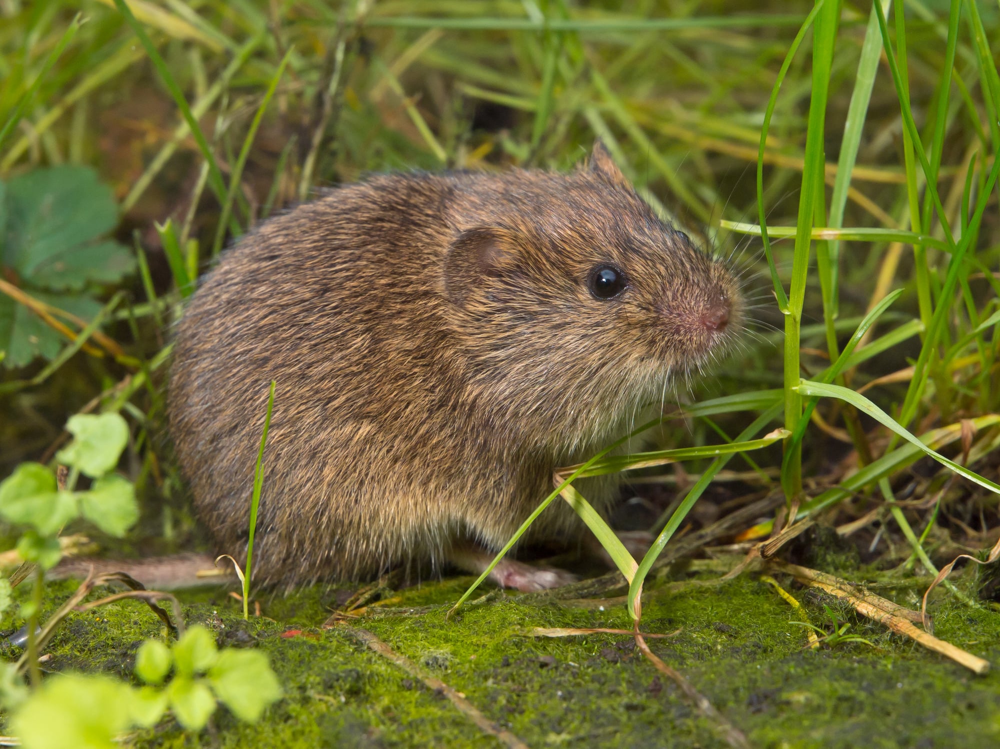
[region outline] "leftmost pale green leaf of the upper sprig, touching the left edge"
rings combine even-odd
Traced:
[[[41,463],[21,463],[0,483],[0,515],[51,535],[79,514],[76,497],[56,489],[56,477]]]

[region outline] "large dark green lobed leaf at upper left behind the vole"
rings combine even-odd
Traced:
[[[81,289],[90,281],[118,281],[132,268],[121,245],[90,245],[118,225],[111,188],[90,167],[36,169],[7,184],[7,231],[0,262],[29,285]],[[82,252],[81,260],[74,258]]]

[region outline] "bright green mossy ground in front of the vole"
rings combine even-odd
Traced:
[[[706,573],[702,573],[706,574]],[[859,570],[858,576],[862,573]],[[525,605],[500,595],[445,618],[470,578],[445,578],[397,591],[395,607],[438,604],[418,615],[362,617],[363,627],[464,693],[486,716],[529,746],[724,746],[713,726],[658,675],[624,635],[558,639],[526,627],[628,628],[624,606],[607,610]],[[781,580],[810,620],[829,625],[829,599]],[[48,591],[53,609],[71,583]],[[885,592],[885,591],[882,591]],[[916,588],[886,593],[919,605]],[[320,627],[345,589],[261,594],[264,617],[244,622],[221,589],[181,594],[189,624],[203,622],[221,645],[268,653],[285,697],[256,725],[219,710],[198,735],[172,721],[135,737],[139,747],[499,746],[447,699],[344,628]],[[880,625],[835,608],[850,632],[870,640],[805,649],[802,618],[757,575],[722,586],[645,596],[643,629],[680,632],[650,640],[757,747],[980,747],[1000,741],[1000,675],[977,677]],[[946,595],[934,607],[935,633],[1000,660],[1000,617]],[[300,634],[282,636],[288,630]],[[47,648],[52,670],[131,673],[159,620],[136,601],[71,615]]]

